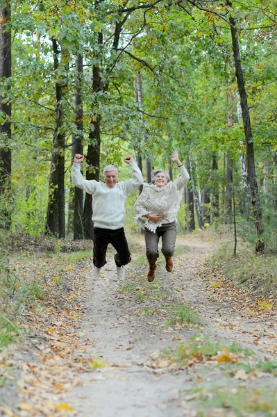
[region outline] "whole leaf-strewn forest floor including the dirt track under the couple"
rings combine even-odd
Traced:
[[[91,259],[21,259],[48,294],[1,352],[0,415],[277,416],[276,304],[210,266],[219,240],[179,236],[174,270],[160,254],[152,283],[142,236],[125,281],[112,249],[97,281]]]

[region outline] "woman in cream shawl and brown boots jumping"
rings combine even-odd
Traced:
[[[162,238],[162,254],[165,256],[165,268],[171,272],[172,256],[176,242],[176,216],[180,208],[183,188],[190,176],[178,158],[178,152],[172,152],[172,161],[178,166],[181,177],[171,181],[169,174],[163,170],[151,172],[152,182],[144,183],[143,190],[135,202],[137,215],[135,222],[144,229],[146,257],[149,262],[147,279],[152,282],[159,256],[158,243]]]

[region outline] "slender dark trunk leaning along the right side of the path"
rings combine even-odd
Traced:
[[[232,8],[232,3],[230,0],[226,1],[227,6]],[[265,251],[265,242],[262,240],[263,227],[262,227],[262,208],[260,205],[260,195],[258,190],[258,184],[255,174],[255,156],[254,156],[254,146],[252,140],[252,129],[251,129],[251,120],[249,115],[249,107],[247,103],[247,95],[244,84],[244,74],[242,71],[242,64],[240,61],[240,44],[237,38],[237,22],[235,19],[230,16],[230,32],[232,35],[232,44],[233,44],[233,57],[235,61],[235,76],[237,79],[237,87],[240,92],[240,106],[242,108],[242,120],[244,122],[244,139],[246,145],[246,161],[248,169],[248,179],[249,179],[249,188],[251,192],[251,202],[253,208],[253,215],[255,218],[255,228],[258,234],[258,240],[255,244],[256,252]]]

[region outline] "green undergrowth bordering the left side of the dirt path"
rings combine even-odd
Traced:
[[[22,314],[29,306],[37,309],[55,293],[55,287],[62,290],[62,270],[72,269],[70,263],[91,258],[91,250],[58,254],[8,252],[6,235],[0,233],[0,349],[15,343],[22,334]],[[50,280],[47,268],[55,271]]]

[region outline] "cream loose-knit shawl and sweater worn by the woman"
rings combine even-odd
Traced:
[[[155,233],[157,227],[176,220],[184,186],[190,179],[190,175],[183,165],[179,167],[179,170],[181,177],[170,181],[163,187],[158,187],[155,184],[143,184],[142,193],[134,205],[134,210],[137,213],[135,222],[142,229],[149,229]],[[154,223],[145,217],[149,213],[160,213],[164,215],[164,218],[161,222]]]

